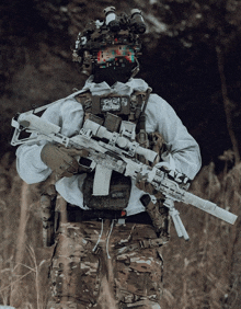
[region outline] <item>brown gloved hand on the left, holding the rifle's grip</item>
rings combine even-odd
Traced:
[[[83,171],[83,168],[79,167],[73,157],[88,157],[88,154],[89,152],[84,149],[68,149],[62,146],[46,144],[42,149],[41,159],[58,178],[70,178]]]

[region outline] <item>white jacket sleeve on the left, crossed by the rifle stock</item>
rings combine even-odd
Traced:
[[[80,130],[82,106],[73,100],[59,100],[42,115],[43,119],[61,127],[61,134],[70,137]],[[16,150],[16,171],[27,184],[45,181],[51,170],[42,161],[41,151],[47,141],[21,145]]]

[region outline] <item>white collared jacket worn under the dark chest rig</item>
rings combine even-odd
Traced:
[[[92,77],[88,79],[84,88],[65,99],[58,100],[43,114],[43,118],[61,127],[61,134],[68,137],[79,133],[83,122],[82,105],[74,99],[81,92],[90,90],[93,95],[118,93],[129,95],[133,91],[146,91],[148,84],[141,79],[130,79],[127,83],[117,82],[108,87],[106,82],[94,83]],[[146,114],[147,133],[159,131],[167,141],[168,152],[162,156],[172,169],[194,179],[200,169],[199,147],[188,134],[173,108],[159,95],[150,94]],[[45,181],[51,170],[41,160],[41,151],[45,142],[22,145],[16,150],[16,169],[20,176],[28,184]],[[88,209],[83,205],[82,184],[85,174],[62,178],[56,183],[58,193],[70,204]],[[126,208],[127,215],[145,210],[139,198],[144,194],[133,181],[130,198]]]

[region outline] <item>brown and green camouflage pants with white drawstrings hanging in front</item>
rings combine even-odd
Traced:
[[[61,224],[47,309],[160,309],[162,258],[156,240],[148,225]]]

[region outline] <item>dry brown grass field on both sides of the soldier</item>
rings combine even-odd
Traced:
[[[44,248],[39,194],[44,184],[27,185],[9,153],[0,162],[0,305],[44,309],[53,248]],[[191,191],[237,215],[241,206],[241,164],[216,175],[204,167]],[[190,205],[176,205],[191,240],[174,227],[163,248],[164,309],[240,309],[240,218],[234,226]]]

